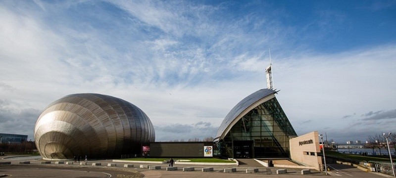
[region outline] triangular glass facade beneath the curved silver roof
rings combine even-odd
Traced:
[[[288,158],[289,137],[297,136],[274,97],[243,116],[217,142],[222,156],[232,158]]]

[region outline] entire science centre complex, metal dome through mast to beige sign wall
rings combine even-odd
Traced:
[[[224,118],[213,142],[155,142],[148,116],[109,95],[70,94],[44,110],[34,136],[44,159],[95,158],[286,158],[319,169],[318,132],[297,136],[279,104],[266,68],[267,89],[241,100]]]

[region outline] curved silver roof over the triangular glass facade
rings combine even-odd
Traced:
[[[246,114],[254,107],[258,106],[259,104],[275,97],[273,94],[276,92],[278,91],[275,91],[273,89],[260,89],[254,93],[251,93],[246,98],[242,99],[237,105],[235,105],[231,109],[231,111],[224,118],[223,122],[219,127],[219,130],[217,131],[217,135],[214,138],[214,141],[224,138],[224,136],[230,131],[232,126],[234,126],[234,124],[239,119],[241,119],[244,114]]]

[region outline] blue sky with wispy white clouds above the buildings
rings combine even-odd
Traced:
[[[156,141],[215,137],[266,88],[298,135],[396,132],[395,0],[1,0],[0,133],[27,134],[53,101],[129,101]]]

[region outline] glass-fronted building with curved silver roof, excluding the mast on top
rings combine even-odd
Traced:
[[[231,109],[214,139],[222,156],[290,157],[289,139],[297,134],[275,93],[273,89],[260,89]]]

